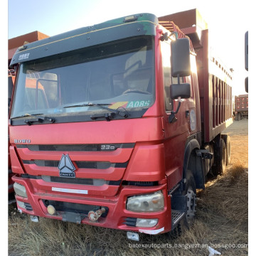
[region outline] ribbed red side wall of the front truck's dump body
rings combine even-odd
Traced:
[[[231,76],[209,53],[208,30],[196,49],[203,141],[212,141],[233,122]]]

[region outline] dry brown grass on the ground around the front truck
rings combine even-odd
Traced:
[[[235,122],[233,126],[235,125],[238,124]],[[41,218],[39,223],[32,223],[27,215],[21,215],[11,206],[9,255],[208,256],[206,244],[225,246],[226,248],[215,248],[222,255],[247,255],[247,248],[229,248],[245,245],[248,241],[247,134],[233,133],[234,131],[230,132],[233,148],[230,167],[223,176],[208,181],[205,190],[198,191],[196,223],[191,230],[186,230],[183,236],[169,238],[166,235],[142,234],[142,242],[133,242],[127,240],[126,233],[120,230],[44,218]],[[148,248],[145,248],[146,246]]]

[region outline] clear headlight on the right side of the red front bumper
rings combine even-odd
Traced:
[[[155,212],[164,209],[164,195],[161,191],[149,195],[131,196],[127,199],[127,210]]]

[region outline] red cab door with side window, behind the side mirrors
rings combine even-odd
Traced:
[[[181,181],[183,176],[183,156],[186,142],[192,134],[198,130],[196,118],[196,101],[194,95],[193,76],[189,75],[180,78],[180,83],[190,85],[191,97],[181,99],[178,108],[178,100],[172,100],[170,96],[170,85],[177,84],[178,79],[171,75],[171,47],[168,41],[161,42],[161,59],[163,68],[163,96],[164,96],[164,149],[166,162],[166,176],[168,186],[171,189],[176,183]],[[191,73],[192,74],[192,73]],[[170,118],[171,117],[171,118]]]

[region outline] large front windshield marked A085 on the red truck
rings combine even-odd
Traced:
[[[107,108],[141,117],[154,103],[153,42],[130,38],[21,64],[11,119],[46,114],[69,122]]]

